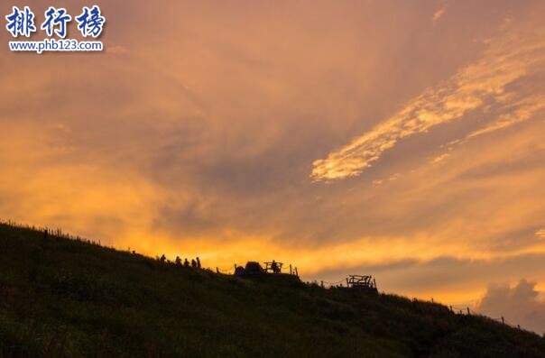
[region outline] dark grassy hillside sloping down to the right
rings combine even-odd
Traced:
[[[0,225],[0,356],[545,357],[545,339],[437,304],[241,280]]]

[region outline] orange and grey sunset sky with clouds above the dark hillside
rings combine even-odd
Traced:
[[[545,331],[545,2],[96,4],[102,53],[2,27],[1,218]]]

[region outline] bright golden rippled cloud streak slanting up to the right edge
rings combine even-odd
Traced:
[[[513,33],[489,41],[480,60],[459,70],[439,86],[428,88],[397,114],[330,152],[326,159],[314,161],[310,177],[318,181],[357,176],[403,138],[461,119],[477,108],[502,106],[510,112],[471,134],[473,136],[528,119],[543,108],[543,96],[522,100],[516,96],[516,89],[508,87],[545,59],[544,50],[545,41],[539,36]]]

